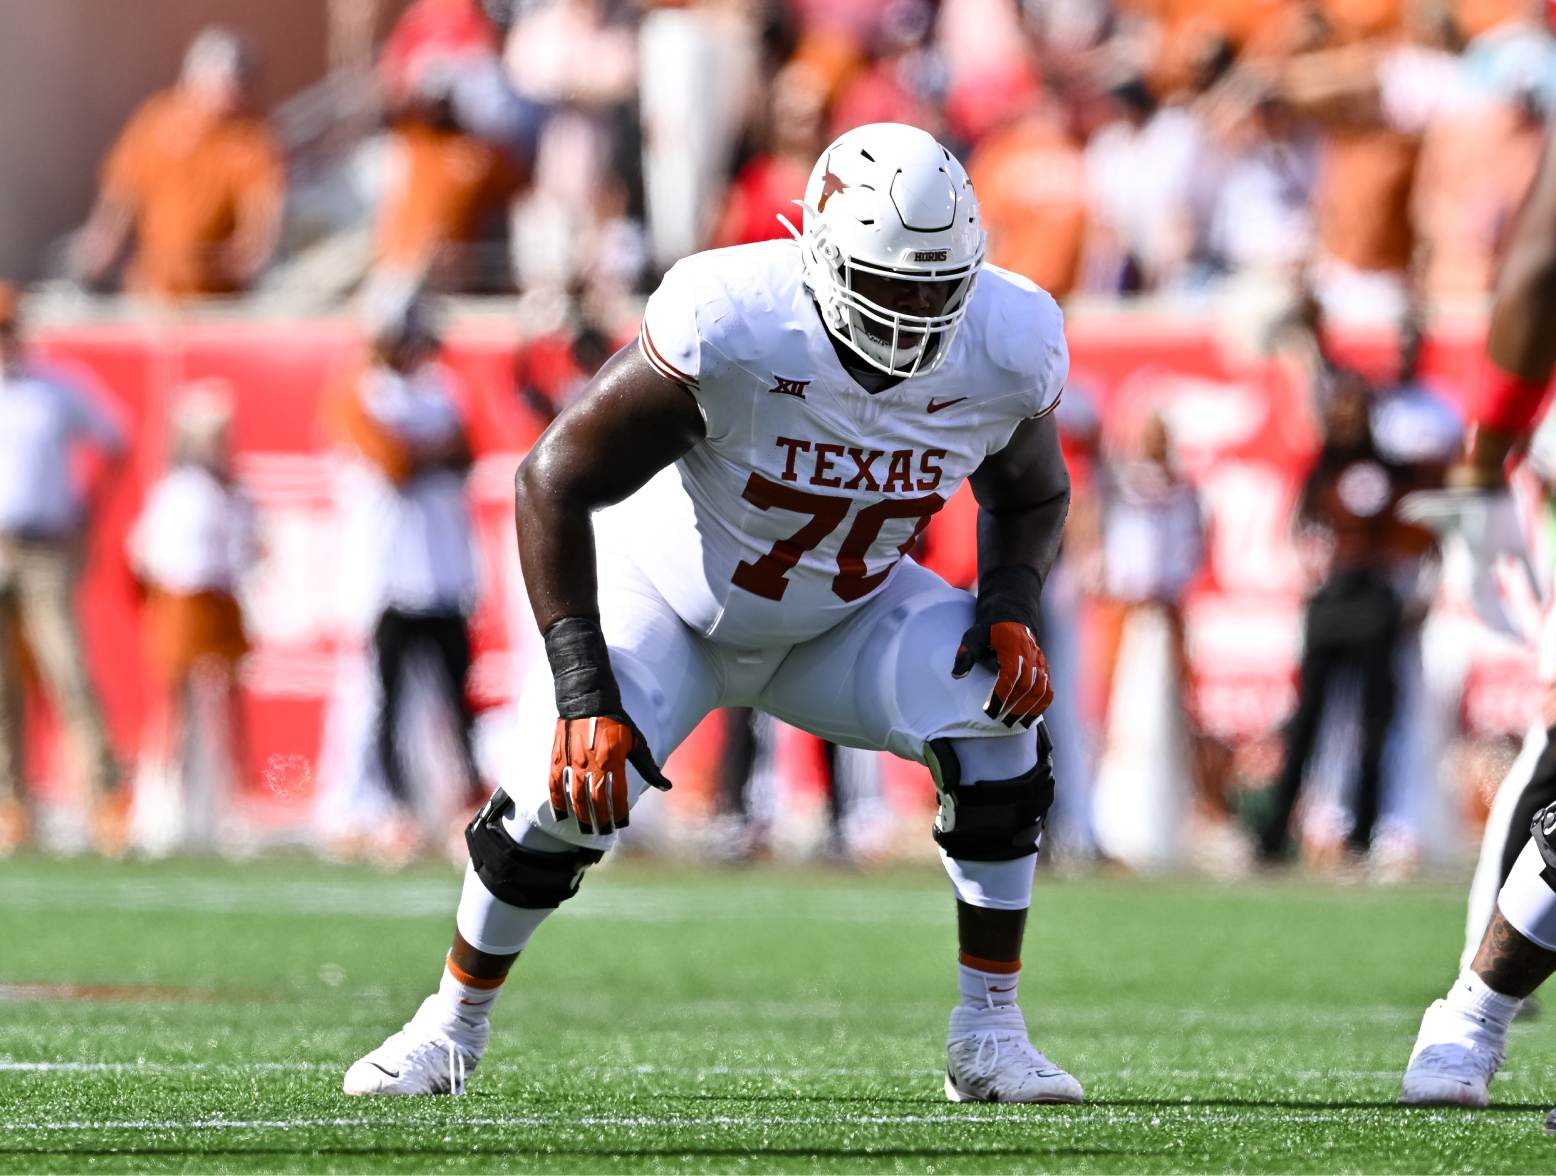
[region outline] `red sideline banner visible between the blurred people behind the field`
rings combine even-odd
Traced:
[[[456,322],[447,352],[478,453],[471,692],[481,708],[512,702],[518,670],[538,644],[518,580],[512,473],[543,422],[517,395],[515,334],[493,320]],[[1295,698],[1302,580],[1290,518],[1316,446],[1307,392],[1268,359],[1225,344],[1206,317],[1075,316],[1069,338],[1071,387],[1097,403],[1105,436],[1130,436],[1151,409],[1175,426],[1181,462],[1209,513],[1207,563],[1187,610],[1200,720],[1234,742],[1268,736]],[[36,344],[112,401],[134,439],[128,471],[104,488],[92,520],[81,602],[92,672],[126,759],[138,744],[146,674],[124,537],[163,468],[179,387],[219,378],[235,390],[238,474],[258,507],[265,551],[244,593],[254,638],[244,670],[249,776],[254,800],[296,810],[313,790],[336,658],[358,639],[338,591],[349,571],[333,493],[339,456],[319,423],[324,390],[359,361],[355,328],[345,320],[87,324],[40,327]],[[1363,370],[1385,372],[1390,345],[1355,338],[1346,353]],[[1428,376],[1455,395],[1469,386],[1478,348],[1477,330],[1439,333]],[[951,569],[972,566],[971,513],[968,502],[954,502],[930,529],[932,563],[952,579]],[[1488,638],[1467,675],[1466,720],[1480,731],[1522,730],[1534,695],[1530,658]],[[34,744],[34,773],[58,778],[53,742]],[[697,754],[694,740],[685,758]]]

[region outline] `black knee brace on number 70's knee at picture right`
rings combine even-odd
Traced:
[[[1038,852],[1043,821],[1053,804],[1053,740],[1038,725],[1038,762],[1011,779],[962,784],[962,765],[949,739],[927,744],[929,772],[940,795],[935,842],[966,862],[1011,862]]]

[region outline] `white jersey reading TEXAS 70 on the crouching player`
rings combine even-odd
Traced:
[[[792,241],[697,254],[649,299],[643,355],[697,398],[706,437],[601,512],[692,630],[764,649],[873,597],[920,532],[1016,426],[1058,403],[1058,305],[983,266],[934,372],[870,394],[843,369]]]

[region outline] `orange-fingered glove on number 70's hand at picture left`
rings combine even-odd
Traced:
[[[629,823],[627,762],[657,789],[669,789],[647,742],[630,722],[610,716],[557,719],[551,742],[551,814],[577,818],[587,834],[608,834]]]

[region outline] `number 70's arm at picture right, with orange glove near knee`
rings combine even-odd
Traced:
[[[971,478],[977,498],[979,593],[972,627],[962,635],[955,677],[974,664],[996,672],[985,714],[1005,726],[1032,726],[1053,702],[1038,647],[1043,583],[1058,558],[1069,513],[1069,471],[1053,414],[1025,420]]]

